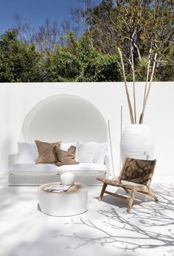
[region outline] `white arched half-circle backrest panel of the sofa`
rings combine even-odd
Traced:
[[[108,141],[101,112],[84,98],[54,95],[38,102],[24,119],[24,141]]]

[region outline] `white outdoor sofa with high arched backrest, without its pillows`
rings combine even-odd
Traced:
[[[35,140],[108,143],[108,127],[100,110],[76,95],[63,94],[44,98],[29,110],[21,130],[26,143],[34,143]],[[9,159],[9,185],[39,185],[60,181],[60,174],[65,171],[73,172],[77,182],[97,185],[100,181],[96,181],[96,178],[105,177],[109,172],[107,154],[108,152],[102,164],[80,162],[60,167],[35,164],[34,160],[20,161],[20,155],[13,154]]]

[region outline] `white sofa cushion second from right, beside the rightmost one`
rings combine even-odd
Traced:
[[[94,158],[94,142],[79,143],[78,161],[80,163],[93,163]]]

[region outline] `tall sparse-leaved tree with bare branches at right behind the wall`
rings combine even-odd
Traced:
[[[112,54],[116,47],[120,47],[128,64],[128,72],[131,53],[139,70],[139,62],[147,58],[152,47],[159,56],[156,69],[158,79],[173,78],[173,1],[102,0],[99,6],[87,13],[91,15],[86,21],[91,21],[88,36],[91,36],[94,47],[105,54]],[[140,77],[142,79],[142,75]]]

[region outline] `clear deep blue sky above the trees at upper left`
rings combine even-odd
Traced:
[[[101,0],[94,0],[99,4]],[[37,28],[46,18],[63,21],[70,18],[71,7],[78,7],[79,0],[0,0],[0,35],[14,24],[13,17],[19,14]]]

